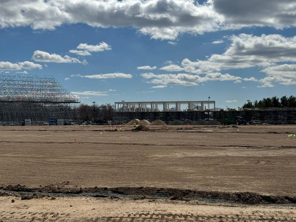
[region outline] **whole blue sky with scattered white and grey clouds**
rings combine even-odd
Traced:
[[[82,103],[292,95],[294,0],[2,0],[0,72],[53,75]]]

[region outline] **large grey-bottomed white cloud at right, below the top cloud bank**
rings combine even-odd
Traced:
[[[232,43],[223,54],[213,54],[207,60],[195,62],[184,59],[184,70],[204,74],[225,69],[266,67],[277,62],[296,62],[296,36],[240,34],[229,39]]]

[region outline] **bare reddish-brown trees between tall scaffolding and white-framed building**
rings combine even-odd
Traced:
[[[112,120],[114,105],[111,105],[111,103],[101,105],[80,104],[77,107],[77,113],[82,121],[104,123],[108,120]]]

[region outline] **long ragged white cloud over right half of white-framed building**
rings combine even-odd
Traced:
[[[154,84],[175,84],[175,85],[198,85],[201,82],[206,81],[236,81],[241,80],[239,76],[232,76],[230,74],[221,74],[221,73],[208,73],[204,77],[199,75],[191,75],[187,73],[179,73],[179,74],[159,74],[155,75],[152,72],[142,73],[141,76],[145,79],[149,80],[150,83]]]

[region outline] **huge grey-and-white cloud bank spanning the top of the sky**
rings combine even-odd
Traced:
[[[0,27],[49,29],[62,24],[134,27],[154,39],[251,26],[296,26],[294,0],[10,0],[1,1]],[[52,16],[54,15],[54,16]]]

